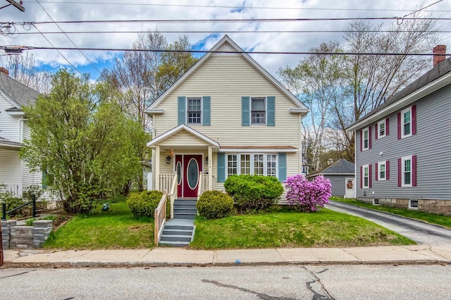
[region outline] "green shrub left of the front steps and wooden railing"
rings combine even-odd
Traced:
[[[130,211],[136,217],[150,217],[154,218],[154,212],[156,206],[158,206],[162,192],[157,190],[134,192],[128,196],[127,204]]]

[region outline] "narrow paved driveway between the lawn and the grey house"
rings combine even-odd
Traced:
[[[400,215],[373,211],[372,209],[353,206],[338,201],[330,201],[329,204],[326,204],[326,208],[370,220],[419,244],[435,246],[451,244],[451,230],[445,227],[404,218]]]

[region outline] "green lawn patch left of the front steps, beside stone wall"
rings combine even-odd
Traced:
[[[108,212],[77,215],[51,232],[47,249],[132,249],[154,247],[154,220],[135,218],[125,201]]]

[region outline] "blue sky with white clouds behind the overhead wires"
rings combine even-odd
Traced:
[[[385,0],[385,1],[324,1],[324,0],[289,0],[289,1],[257,1],[257,0],[202,0],[183,1],[183,4],[194,4],[196,6],[168,6],[180,4],[180,1],[153,0],[150,4],[156,5],[135,5],[149,4],[146,0],[109,0],[108,5],[87,4],[87,1],[80,0],[80,4],[75,1],[39,1],[45,11],[56,21],[66,20],[173,20],[173,19],[247,19],[247,18],[355,18],[355,17],[394,17],[402,16],[414,8],[412,1]],[[111,3],[117,3],[111,4]],[[28,21],[51,21],[47,13],[35,1],[24,1],[26,11],[22,13],[12,6],[0,10],[0,20],[5,22],[28,22]],[[236,6],[238,9],[221,7]],[[245,8],[240,9],[242,6]],[[271,9],[261,9],[259,7],[270,7]],[[254,8],[247,8],[254,7]],[[290,9],[276,9],[276,8]],[[304,9],[295,9],[304,8]],[[324,8],[328,8],[327,10]],[[333,9],[333,10],[330,10]],[[359,10],[357,10],[359,9]],[[366,11],[365,11],[366,9]],[[368,11],[373,9],[372,11]],[[377,11],[374,11],[376,9]],[[391,11],[389,11],[391,10]],[[394,11],[403,10],[403,11]],[[429,8],[433,15],[443,18],[450,16],[451,4],[442,1]],[[381,20],[376,20],[382,23]],[[243,49],[254,49],[254,51],[308,51],[311,47],[338,40],[343,42],[342,33],[288,33],[288,30],[345,30],[347,21],[311,21],[311,22],[285,22],[285,23],[75,23],[59,24],[61,29],[68,31],[142,31],[153,30],[204,30],[206,33],[187,33],[192,44],[198,44],[216,31],[237,31],[237,30],[280,30],[280,33],[229,33],[230,37]],[[386,22],[388,23],[388,22]],[[449,21],[440,21],[442,29],[450,27]],[[54,24],[37,25],[42,32],[60,32]],[[35,32],[34,28],[26,31],[23,27],[18,27],[20,32]],[[211,33],[208,33],[211,32]],[[168,42],[178,39],[183,33],[164,33]],[[205,41],[204,49],[209,49],[224,34],[215,35],[216,38],[209,38]],[[60,47],[73,47],[73,44],[62,34],[46,34],[45,37]],[[78,47],[86,48],[125,48],[130,47],[136,39],[136,33],[114,33],[114,34],[72,34],[70,39]],[[449,34],[445,35],[445,42]],[[16,39],[10,37],[0,37],[0,46],[21,45],[21,46],[51,46],[42,35],[19,35]],[[432,48],[432,46],[431,46]],[[70,63],[75,66],[89,65],[87,59],[78,51],[61,50]],[[54,50],[32,51],[35,60],[39,65],[49,65],[53,68],[68,66],[66,60]],[[119,55],[117,52],[105,51],[85,51],[85,55],[94,65],[104,66],[106,61]],[[276,75],[276,71],[285,65],[294,66],[301,56],[294,55],[268,55],[256,54],[253,57],[266,68],[270,73]],[[93,69],[93,68],[92,68]],[[92,70],[93,77],[97,77],[97,71]]]

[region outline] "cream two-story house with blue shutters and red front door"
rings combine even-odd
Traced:
[[[225,36],[147,111],[152,187],[169,190],[177,174],[178,196],[190,198],[199,180],[201,189],[223,190],[230,175],[299,174],[307,111]]]

